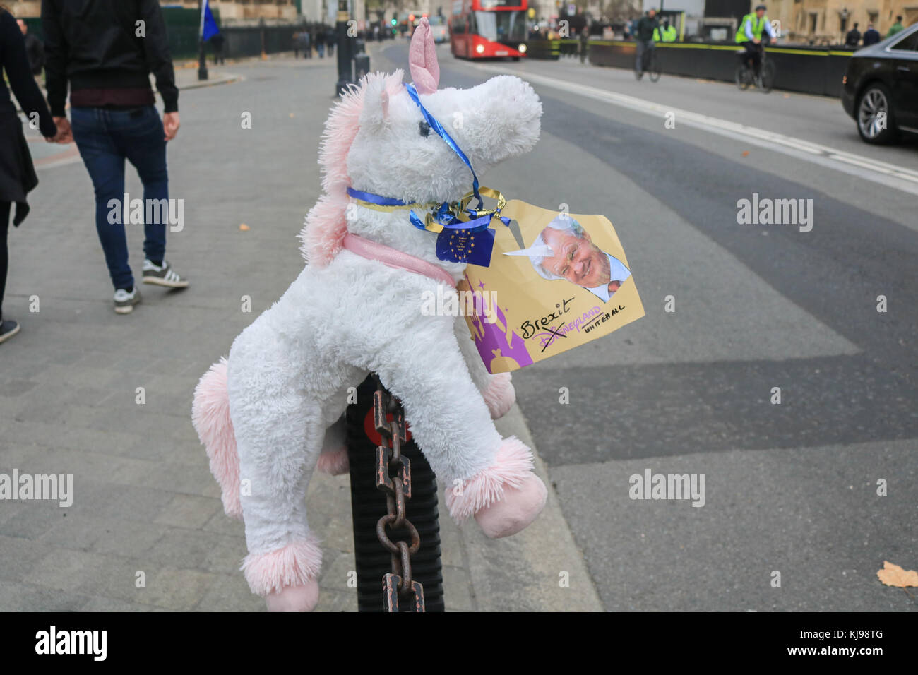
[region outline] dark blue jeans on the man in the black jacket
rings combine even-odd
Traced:
[[[132,287],[134,276],[128,264],[124,224],[108,221],[112,210],[109,201],[117,199],[121,204],[124,199],[125,159],[140,174],[144,204],[148,204],[149,199],[169,198],[162,120],[152,106],[132,110],[74,107],[71,126],[73,141],[93,181],[95,231],[106,253],[108,274],[116,288]],[[166,223],[144,223],[143,232],[143,253],[151,260],[162,260],[166,249]]]

